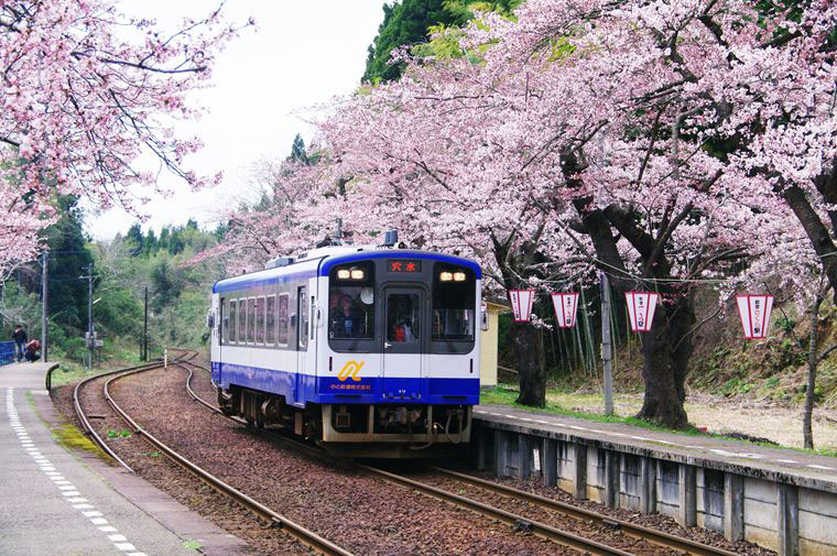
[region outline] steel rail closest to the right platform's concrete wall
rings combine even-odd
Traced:
[[[515,489],[513,487],[507,487],[506,484],[500,484],[497,482],[488,481],[486,479],[480,479],[479,477],[474,477],[470,475],[460,473],[458,471],[453,471],[450,469],[445,469],[445,468],[435,467],[435,466],[431,466],[430,469],[436,471],[439,475],[445,475],[454,479],[460,480],[463,482],[467,482],[476,487],[483,488],[486,490],[491,490],[493,492],[497,492],[507,497],[515,498],[524,502],[536,504],[536,505],[540,505],[541,508],[545,508],[547,510],[552,510],[561,514],[568,515],[570,517],[575,517],[578,520],[590,520],[600,525],[618,528],[628,536],[632,536],[634,538],[641,538],[649,543],[663,546],[666,548],[674,548],[677,550],[682,550],[685,554],[692,554],[694,556],[736,556],[736,553],[726,550],[724,548],[717,548],[714,546],[705,545],[696,541],[682,538],[682,537],[672,535],[670,533],[655,531],[649,527],[644,527],[642,525],[637,525],[634,523],[618,520],[616,517],[608,517],[606,515],[593,512],[590,510],[586,510],[584,508],[578,508],[572,504],[567,504],[565,502],[561,502],[558,500],[553,500],[551,498],[542,497],[540,494],[534,494],[532,492],[526,492],[524,490]]]

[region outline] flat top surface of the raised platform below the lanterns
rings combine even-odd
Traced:
[[[605,447],[660,459],[685,461],[753,477],[837,492],[837,458],[709,436],[649,430],[624,423],[598,423],[507,405],[478,405],[474,418],[489,426],[534,436],[602,443]]]

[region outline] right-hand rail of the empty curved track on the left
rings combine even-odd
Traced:
[[[172,364],[174,366],[181,366],[183,362],[188,361],[172,361]],[[159,366],[157,366],[159,367]],[[113,400],[113,397],[110,395],[110,392],[108,390],[108,386],[119,380],[123,379],[130,374],[142,372],[148,369],[137,369],[132,370],[122,374],[119,374],[117,377],[113,377],[109,379],[105,383],[105,397],[110,404],[111,407],[113,407],[113,411],[119,414],[122,419],[124,419],[126,423],[129,424],[131,428],[133,428],[134,434],[138,436],[143,437],[149,444],[157,448],[160,451],[165,454],[167,457],[170,457],[174,462],[186,469],[187,471],[192,472],[193,475],[197,476],[202,481],[207,483],[209,487],[215,489],[216,491],[220,492],[221,494],[227,495],[228,498],[232,499],[233,501],[238,502],[256,515],[260,516],[264,521],[271,524],[271,526],[274,526],[276,528],[281,528],[286,531],[289,534],[296,537],[301,543],[314,548],[315,550],[318,550],[326,555],[334,555],[334,556],[352,556],[352,554],[336,544],[331,543],[330,541],[323,538],[322,536],[317,535],[313,531],[300,525],[298,523],[289,520],[284,515],[280,514],[279,512],[275,512],[274,510],[271,510],[267,505],[258,502],[257,500],[253,500],[252,498],[248,497],[240,490],[236,489],[235,487],[224,482],[219,478],[215,477],[214,475],[209,473],[205,469],[198,467],[197,465],[193,464],[182,455],[180,455],[177,451],[175,451],[173,448],[169,447],[166,444],[154,437],[151,433],[142,428],[133,418],[131,418],[128,413],[126,413],[124,410],[122,410],[119,404]]]

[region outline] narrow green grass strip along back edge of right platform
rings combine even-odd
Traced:
[[[763,446],[767,448],[789,449],[789,450],[794,450],[802,454],[809,454],[813,456],[837,457],[837,450],[830,449],[830,448],[811,450],[806,448],[797,448],[795,446],[782,446],[782,445],[769,444],[769,443],[753,443],[749,440],[742,440],[740,438],[732,438],[730,436],[725,436],[720,434],[705,433],[693,426],[689,426],[683,429],[674,429],[674,428],[656,425],[648,421],[642,421],[637,417],[622,417],[619,415],[604,415],[600,413],[570,411],[559,404],[550,402],[548,400],[546,402],[545,407],[530,407],[529,405],[521,405],[514,402],[518,399],[518,394],[519,392],[517,390],[512,390],[510,388],[507,388],[506,385],[498,385],[493,390],[480,392],[479,402],[481,404],[511,405],[512,407],[517,407],[519,410],[523,410],[531,413],[563,415],[566,417],[575,417],[579,419],[591,421],[595,423],[622,423],[622,424],[633,425],[640,428],[644,428],[648,430],[655,430],[655,432],[661,432],[661,433],[672,433],[672,434],[680,434],[680,435],[685,435],[685,436],[702,436],[705,438],[715,438],[718,440],[733,441],[738,444],[744,443],[744,444],[750,444],[753,446]]]

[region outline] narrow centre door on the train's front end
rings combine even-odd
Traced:
[[[394,400],[420,400],[427,394],[422,364],[430,331],[425,321],[427,294],[420,286],[387,286],[383,298],[383,394]]]

